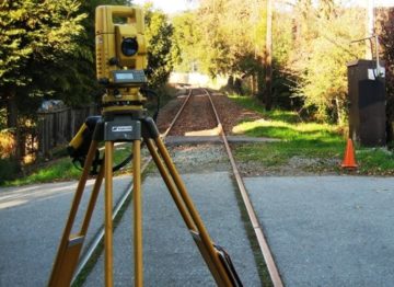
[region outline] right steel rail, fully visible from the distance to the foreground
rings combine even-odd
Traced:
[[[212,106],[212,110],[213,110],[213,113],[215,113],[215,116],[216,116],[216,119],[217,119],[217,123],[218,123],[219,133],[220,133],[221,138],[223,140],[225,151],[227,151],[227,153],[229,156],[231,167],[232,167],[232,170],[233,170],[233,174],[234,174],[234,177],[235,177],[235,181],[236,181],[236,185],[237,185],[239,191],[241,193],[241,196],[242,196],[243,203],[245,205],[248,218],[250,218],[250,220],[252,222],[252,226],[253,226],[253,230],[255,231],[258,245],[260,248],[262,254],[263,254],[265,263],[267,265],[269,277],[270,277],[270,279],[271,279],[275,287],[282,287],[283,283],[282,283],[281,278],[280,278],[278,268],[277,268],[275,260],[273,257],[273,253],[270,252],[270,249],[268,246],[268,243],[267,243],[266,238],[265,238],[264,232],[263,232],[263,228],[262,228],[260,223],[258,222],[256,213],[255,213],[255,210],[253,208],[253,205],[252,205],[251,198],[250,198],[250,196],[247,194],[245,184],[244,184],[244,182],[242,180],[239,168],[237,168],[236,162],[234,160],[234,157],[232,154],[232,151],[231,151],[229,141],[227,139],[223,126],[222,126],[222,124],[220,122],[219,114],[218,114],[218,112],[217,112],[217,110],[215,107],[215,104],[213,104],[212,97],[210,95],[210,92],[207,89],[204,89],[204,90],[207,93],[208,99],[209,99],[209,101],[211,103],[211,106]]]

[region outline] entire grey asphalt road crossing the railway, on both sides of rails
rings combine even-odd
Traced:
[[[184,179],[245,286],[260,286],[229,173]],[[129,183],[117,181],[117,192]],[[286,286],[393,286],[393,177],[265,176],[245,184]],[[71,182],[0,190],[0,286],[46,284],[74,187]],[[143,190],[147,286],[213,286],[161,179],[149,176]],[[93,226],[101,223],[101,211]],[[130,214],[115,233],[116,286],[132,279]],[[102,267],[100,261],[86,286],[103,286]]]

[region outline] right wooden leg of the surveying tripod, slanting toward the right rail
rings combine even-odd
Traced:
[[[163,162],[164,162],[166,169],[169,170],[173,182],[175,183],[175,185],[177,187],[179,198],[183,202],[182,204],[184,204],[184,206],[186,207],[188,214],[190,215],[193,223],[196,226],[196,230],[192,230],[193,237],[194,237],[194,239],[201,252],[201,255],[202,255],[204,260],[206,261],[215,280],[217,282],[218,286],[225,286],[225,287],[233,286],[231,279],[229,277],[229,274],[227,273],[225,268],[223,267],[223,264],[221,263],[219,255],[215,250],[213,243],[208,234],[208,231],[207,231],[196,207],[194,206],[192,198],[189,197],[189,195],[187,193],[186,186],[185,186],[184,182],[182,181],[174,163],[172,162],[169,151],[166,150],[166,148],[165,148],[163,141],[160,139],[160,137],[157,137],[153,140],[158,147],[159,154],[163,159]],[[166,176],[169,176],[169,175],[166,175]],[[178,206],[178,205],[181,205],[181,203],[179,204],[176,203],[176,205]]]

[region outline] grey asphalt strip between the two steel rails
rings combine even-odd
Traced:
[[[184,174],[212,240],[231,255],[244,286],[260,286],[229,172]],[[163,181],[143,186],[144,286],[216,286]],[[114,236],[114,284],[132,286],[132,217],[129,207]],[[84,286],[104,286],[103,255]]]

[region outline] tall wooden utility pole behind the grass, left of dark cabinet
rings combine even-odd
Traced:
[[[265,108],[269,111],[273,106],[273,0],[267,0],[267,34],[265,53]]]

